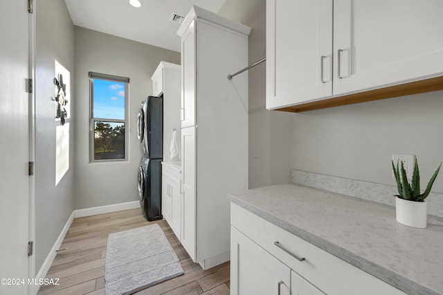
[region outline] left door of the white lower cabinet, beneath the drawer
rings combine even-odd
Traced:
[[[291,270],[230,228],[230,295],[289,295]]]

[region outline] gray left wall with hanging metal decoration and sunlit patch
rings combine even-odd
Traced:
[[[73,211],[74,121],[67,120],[70,127],[69,170],[55,184],[56,168],[56,105],[53,79],[56,77],[55,60],[71,72],[73,97],[74,28],[64,1],[39,0],[36,6],[37,44],[35,73],[36,113],[36,167],[35,167],[35,267],[40,267],[55,240]],[[69,101],[73,105],[73,101]],[[71,110],[73,108],[71,107]],[[72,115],[72,114],[71,114]],[[67,127],[65,125],[64,127]]]

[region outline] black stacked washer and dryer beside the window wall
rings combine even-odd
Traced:
[[[163,161],[163,98],[148,96],[138,111],[137,136],[142,159],[138,170],[138,197],[145,218],[162,219],[161,161]]]

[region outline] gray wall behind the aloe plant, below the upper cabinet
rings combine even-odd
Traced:
[[[442,110],[435,91],[293,114],[293,168],[395,185],[392,154],[415,154],[425,188],[443,161]]]

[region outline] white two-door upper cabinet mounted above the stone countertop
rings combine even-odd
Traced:
[[[266,1],[266,108],[441,76],[442,11],[439,0]]]

